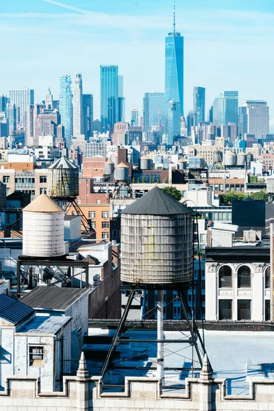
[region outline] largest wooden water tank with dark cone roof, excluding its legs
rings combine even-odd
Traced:
[[[166,289],[192,275],[192,211],[155,187],[121,212],[121,281]]]

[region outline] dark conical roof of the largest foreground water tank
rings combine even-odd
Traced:
[[[174,214],[192,214],[192,210],[180,203],[158,187],[152,188],[140,199],[134,201],[123,214],[165,216]]]

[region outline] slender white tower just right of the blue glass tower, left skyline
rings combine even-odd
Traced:
[[[82,95],[82,74],[77,73],[73,79],[73,136],[83,134]]]

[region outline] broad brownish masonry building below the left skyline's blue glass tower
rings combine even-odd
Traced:
[[[35,119],[35,136],[51,135],[57,137],[57,127],[61,123],[61,116],[57,110],[43,110]]]

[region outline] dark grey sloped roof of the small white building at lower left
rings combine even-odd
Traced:
[[[88,290],[86,288],[59,288],[38,286],[21,297],[20,301],[39,309],[66,310]]]

